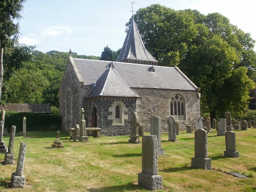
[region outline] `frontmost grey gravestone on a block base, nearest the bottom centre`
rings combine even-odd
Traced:
[[[142,138],[142,172],[138,174],[138,185],[150,190],[162,188],[162,176],[158,175],[158,138],[145,135]]]

